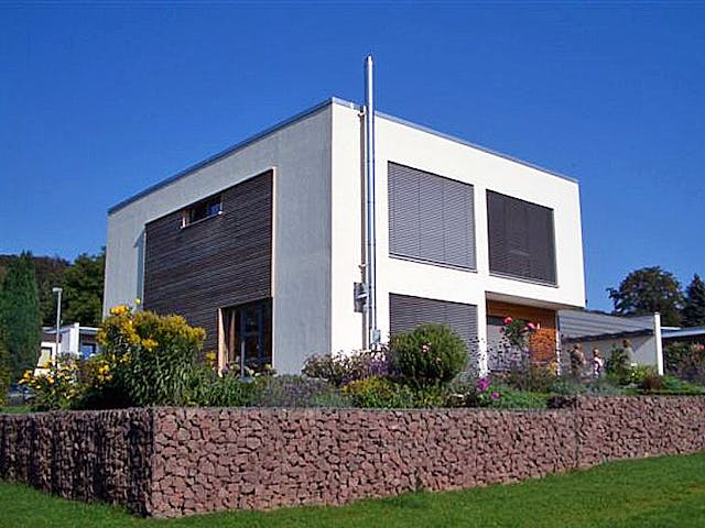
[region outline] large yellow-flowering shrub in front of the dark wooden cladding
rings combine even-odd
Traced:
[[[205,331],[180,316],[110,309],[98,343],[111,365],[117,388],[132,405],[185,405],[192,397],[196,360]]]

